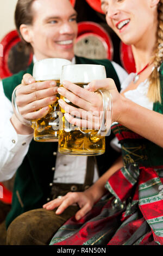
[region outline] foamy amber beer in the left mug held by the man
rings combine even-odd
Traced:
[[[67,59],[42,59],[34,64],[33,77],[35,81],[42,82],[52,80],[60,85],[60,75],[63,65],[71,64]],[[57,101],[49,105],[48,114],[40,119],[33,120],[34,140],[38,142],[55,142],[58,141],[59,135],[59,94]]]

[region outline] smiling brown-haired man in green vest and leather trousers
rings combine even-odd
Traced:
[[[17,30],[28,46],[32,46],[34,62],[57,57],[77,64],[102,64],[107,76],[113,78],[120,89],[116,71],[122,79],[126,77],[120,66],[112,63],[115,71],[109,60],[74,57],[78,28],[76,17],[76,11],[68,0],[18,0],[15,11]],[[84,191],[98,179],[98,173],[102,175],[117,158],[109,145],[112,136],[106,137],[106,153],[96,159],[61,155],[57,151],[58,143],[34,142],[33,129],[22,124],[13,114],[12,92],[24,78],[17,90],[17,105],[23,118],[30,120],[46,115],[47,106],[55,101],[57,90],[55,83],[34,83],[32,70],[33,63],[26,71],[3,80],[0,89],[3,109],[0,180],[11,178],[17,170],[12,208],[5,222],[8,228],[18,216],[8,229],[7,243],[10,245],[48,244],[55,231],[76,213],[78,207],[70,206],[64,214],[57,216],[55,211],[40,209],[42,205],[68,191]],[[4,223],[1,230],[4,230]]]

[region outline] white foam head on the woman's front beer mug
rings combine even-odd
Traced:
[[[60,83],[64,80],[72,83],[90,83],[93,80],[104,78],[106,78],[106,70],[102,65],[67,65],[62,67]]]

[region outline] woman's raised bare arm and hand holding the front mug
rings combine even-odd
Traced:
[[[86,92],[87,89],[87,92]],[[96,93],[98,89],[108,90],[112,96],[112,122],[118,122],[128,129],[149,139],[149,141],[163,147],[163,115],[141,107],[133,101],[126,99],[118,93],[114,81],[110,78],[93,81],[86,89],[75,86],[65,81],[64,88],[59,88],[58,92],[65,96],[74,105],[80,108],[68,107],[66,102],[60,100],[59,104],[66,109],[66,119],[77,126],[95,128],[98,123],[98,115],[102,110],[102,99]],[[71,113],[78,112],[84,119],[73,118]],[[82,112],[85,113],[82,115]],[[96,114],[93,114],[93,113]]]

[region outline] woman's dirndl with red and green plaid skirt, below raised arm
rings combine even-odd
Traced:
[[[50,245],[163,245],[163,149],[121,124],[112,131],[123,167],[92,210],[70,218]]]

